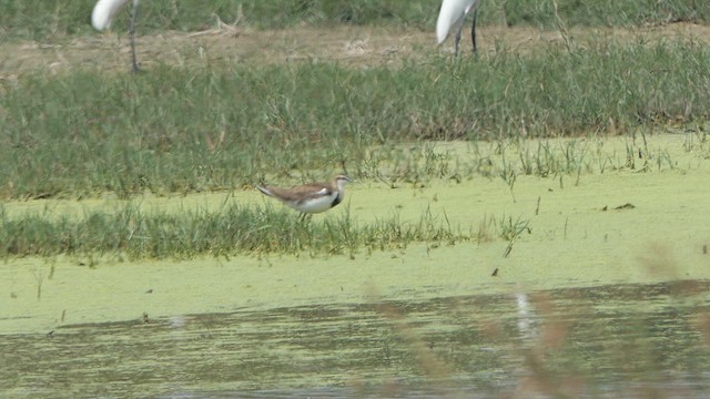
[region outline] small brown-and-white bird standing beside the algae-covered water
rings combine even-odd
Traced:
[[[308,183],[292,188],[257,185],[256,190],[303,214],[314,214],[343,202],[345,184],[349,181],[345,175],[337,175],[332,183]]]

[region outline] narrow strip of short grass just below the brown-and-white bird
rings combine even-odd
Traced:
[[[505,216],[504,216],[505,218]],[[112,213],[82,217],[27,214],[19,218],[0,208],[0,258],[16,256],[109,256],[119,259],[190,258],[212,255],[271,253],[312,256],[429,246],[506,238],[505,224],[495,217],[476,229],[452,225],[446,215],[423,213],[417,222],[398,215],[361,225],[349,214],[338,218],[302,219],[290,211],[224,205],[217,212],[141,212],[129,203]]]

